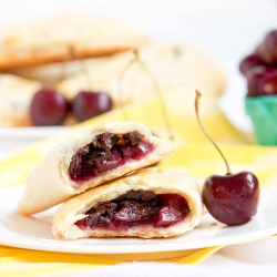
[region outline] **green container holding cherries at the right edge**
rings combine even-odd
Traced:
[[[245,110],[252,119],[257,143],[277,145],[277,95],[246,96]]]

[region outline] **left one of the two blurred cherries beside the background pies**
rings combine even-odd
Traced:
[[[30,115],[34,125],[60,125],[70,110],[65,96],[52,89],[41,89],[31,101]]]

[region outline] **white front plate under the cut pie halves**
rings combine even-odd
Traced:
[[[62,240],[53,237],[51,220],[57,207],[33,217],[18,214],[17,204],[22,192],[23,186],[0,191],[0,244],[2,245],[94,255],[166,253],[168,257],[171,252],[173,254],[181,250],[245,243],[277,233],[277,191],[269,188],[261,189],[258,213],[244,225],[228,227],[217,223],[205,213],[199,226],[174,238],[85,238],[78,240]]]

